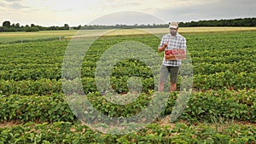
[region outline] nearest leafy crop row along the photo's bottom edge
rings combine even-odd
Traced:
[[[145,129],[125,135],[108,135],[90,130],[81,124],[55,122],[53,124],[28,123],[0,128],[0,143],[230,143],[254,144],[255,126],[232,124],[187,125],[177,123],[168,128],[149,124]],[[243,135],[243,136],[241,136]]]

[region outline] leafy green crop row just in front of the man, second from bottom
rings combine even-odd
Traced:
[[[126,95],[132,96],[132,95]],[[166,109],[162,115],[171,114],[178,93],[169,95]],[[79,108],[76,115],[79,118],[94,119],[96,115],[87,116],[88,107],[84,106],[84,98],[88,99],[97,111],[109,117],[129,117],[136,115],[148,106],[152,95],[141,94],[136,101],[127,105],[116,105],[106,100],[99,93],[90,93],[79,96],[74,102]],[[127,97],[128,98],[128,97]],[[69,99],[68,99],[69,100]],[[195,122],[214,122],[216,119],[236,119],[241,121],[256,122],[256,91],[243,89],[240,91],[218,90],[207,92],[193,92],[181,118]],[[69,103],[72,101],[69,101]],[[82,103],[81,103],[82,102]],[[163,104],[164,105],[164,104]],[[51,95],[10,95],[0,98],[0,121],[18,120],[22,122],[74,122],[74,113],[67,105],[67,97],[63,94]],[[85,117],[85,115],[86,117]]]

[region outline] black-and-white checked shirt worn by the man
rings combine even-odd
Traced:
[[[173,37],[171,35],[171,33],[164,35],[161,39],[159,47],[163,46],[164,43],[167,43],[167,46],[168,46],[166,48],[166,50],[184,49],[186,51],[186,49],[187,49],[186,38],[178,33],[175,37]],[[164,65],[164,66],[180,66],[181,60],[166,60],[164,58],[162,65]]]

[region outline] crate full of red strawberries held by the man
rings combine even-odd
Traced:
[[[186,53],[184,49],[171,49],[165,51],[166,60],[184,60],[186,59]]]

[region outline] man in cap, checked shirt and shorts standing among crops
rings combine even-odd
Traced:
[[[186,51],[186,38],[178,34],[178,24],[177,22],[169,23],[170,33],[164,35],[160,41],[158,52],[171,50],[171,49],[183,49],[184,55]],[[176,90],[177,85],[177,75],[181,66],[181,60],[176,58],[175,60],[166,60],[166,55],[160,67],[160,79],[158,91],[164,90],[164,84],[168,75],[170,74],[171,88],[170,92]]]

